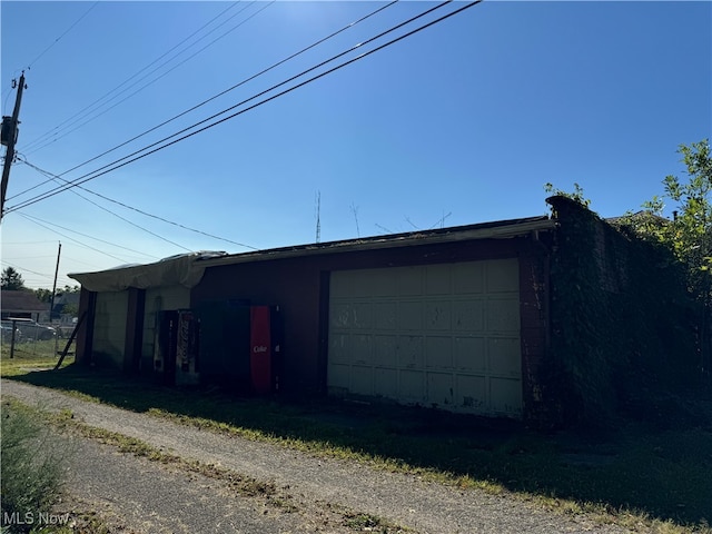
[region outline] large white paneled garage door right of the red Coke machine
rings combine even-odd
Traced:
[[[334,271],[327,385],[520,417],[516,259]]]

